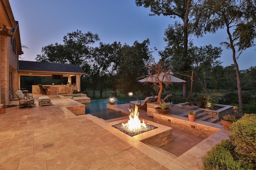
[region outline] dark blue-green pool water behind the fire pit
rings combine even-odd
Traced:
[[[130,101],[134,101],[134,100],[143,100],[143,99],[135,98],[135,97],[116,98],[117,102],[115,104],[127,104],[127,103],[130,103]],[[102,118],[104,120],[128,116],[128,114],[114,111],[112,109],[107,109],[107,104],[109,104],[108,99],[91,100],[90,103],[83,103],[83,104],[85,105],[86,114],[91,114],[98,118]]]

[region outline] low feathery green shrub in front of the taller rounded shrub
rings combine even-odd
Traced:
[[[247,165],[240,160],[234,160],[232,154],[235,146],[229,140],[216,144],[202,158],[204,170],[248,170],[252,165]]]

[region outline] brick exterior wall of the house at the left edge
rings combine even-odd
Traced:
[[[0,35],[0,83],[1,83],[1,99],[0,103],[10,104],[14,91],[18,90],[18,55],[11,50],[12,37]],[[15,51],[17,51],[15,49]],[[10,74],[12,75],[12,86],[10,89]]]

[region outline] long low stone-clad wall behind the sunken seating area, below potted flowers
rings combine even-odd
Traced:
[[[214,127],[198,124],[196,123],[196,121],[186,121],[182,119],[177,119],[177,118],[171,117],[172,115],[170,116],[161,115],[158,113],[153,113],[153,114],[154,114],[153,120],[156,123],[160,123],[162,125],[166,125],[168,127],[172,127],[180,131],[188,132],[203,138],[207,138],[219,130]]]

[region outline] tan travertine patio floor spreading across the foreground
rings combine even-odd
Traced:
[[[76,106],[71,99],[50,96],[52,106],[39,107],[38,96],[34,97],[36,106],[10,107],[0,115],[0,169],[198,170],[206,151],[229,135],[222,125],[211,123],[220,130],[184,154],[172,156],[97,117],[74,115],[66,109]],[[173,140],[180,140],[175,132]]]

